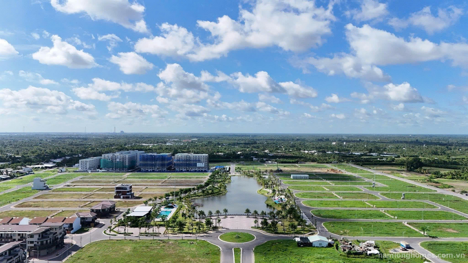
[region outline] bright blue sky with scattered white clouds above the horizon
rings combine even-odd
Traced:
[[[0,7],[2,132],[466,134],[460,1]]]

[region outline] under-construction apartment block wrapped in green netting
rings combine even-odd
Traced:
[[[138,167],[137,156],[144,151],[119,151],[106,153],[101,157],[101,169],[104,171],[132,171]]]

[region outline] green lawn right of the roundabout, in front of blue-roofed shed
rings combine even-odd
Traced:
[[[388,252],[398,243],[376,241],[381,250]],[[297,246],[294,240],[271,240],[255,247],[255,263],[423,263],[422,258],[378,258],[346,256],[335,248]]]

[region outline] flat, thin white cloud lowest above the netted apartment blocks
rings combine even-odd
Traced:
[[[166,111],[161,110],[158,105],[145,105],[134,102],[127,102],[125,104],[111,101],[107,105],[110,113],[106,117],[110,119],[142,119],[146,116],[152,118],[164,118]]]

